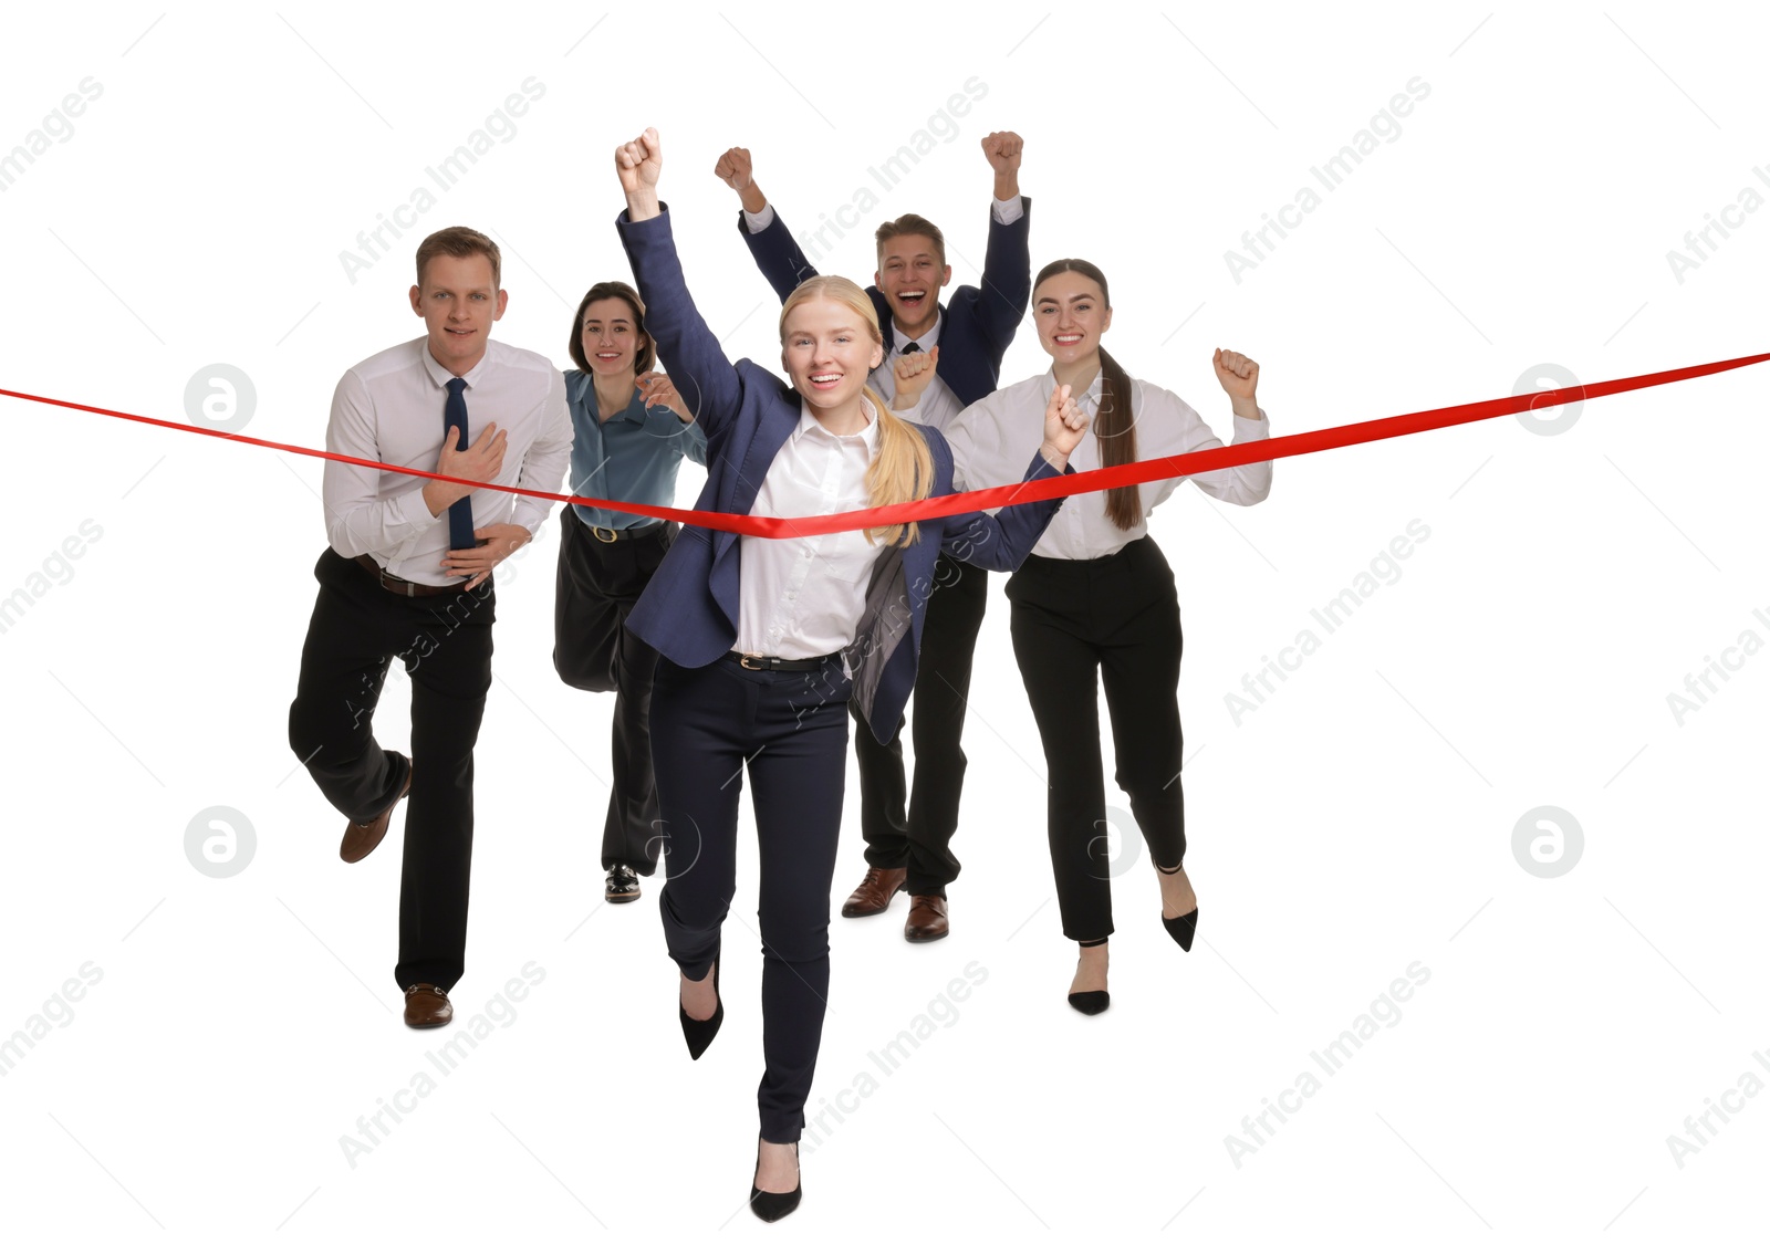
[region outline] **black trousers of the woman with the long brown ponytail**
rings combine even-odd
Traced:
[[[1097,941],[1113,929],[1097,687],[1112,717],[1113,780],[1131,800],[1150,858],[1175,869],[1186,856],[1174,572],[1143,536],[1090,561],[1027,557],[1007,598],[1014,660],[1044,745],[1064,936]]]

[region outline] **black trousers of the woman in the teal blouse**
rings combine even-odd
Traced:
[[[602,867],[625,864],[641,876],[657,871],[660,846],[650,734],[651,671],[658,655],[627,628],[627,616],[664,564],[676,533],[674,522],[662,522],[646,534],[604,541],[572,506],[559,513],[554,669],[568,687],[614,692]]]

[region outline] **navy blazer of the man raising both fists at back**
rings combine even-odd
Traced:
[[[970,405],[995,393],[1002,377],[1002,356],[1014,340],[1014,329],[1027,315],[1032,299],[1032,251],[1027,250],[1027,225],[1032,219],[1032,200],[1020,200],[1021,216],[1012,225],[997,223],[989,212],[989,250],[984,251],[984,287],[961,285],[952,299],[940,304],[940,363],[935,375],[947,382],[959,405]],[[738,212],[738,232],[756,267],[773,285],[781,301],[800,283],[818,274],[805,253],[781,221],[781,209],[761,234],[752,234]],[[876,285],[867,287],[880,327],[885,329],[885,349],[890,352],[890,303]]]

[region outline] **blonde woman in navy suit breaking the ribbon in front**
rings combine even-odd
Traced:
[[[706,432],[697,510],[791,518],[952,492],[952,455],[933,428],[896,418],[866,388],[883,357],[878,315],[839,276],[781,308],[791,377],[733,365],[683,283],[671,214],[657,196],[657,131],[614,154],[627,211],[616,227],[646,303],[658,359]],[[1014,472],[1069,471],[1087,419],[1046,403],[1043,444]],[[935,557],[1012,570],[1058,501],[1000,517],[961,513],[867,531],[765,538],[683,527],[628,619],[658,653],[651,692],[666,883],[664,940],[680,968],[678,1019],[699,1058],[724,1017],[720,925],[736,890],[738,795],[752,784],[763,943],[761,1134],[750,1209],[798,1205],[798,1136],[830,982],[830,878],[843,819],[848,708],[885,741],[915,683]]]

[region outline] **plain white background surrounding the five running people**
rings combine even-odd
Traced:
[[[1097,262],[1110,349],[1223,435],[1218,345],[1260,361],[1274,434],[1508,395],[1540,363],[1598,380],[1766,349],[1770,212],[1682,283],[1666,258],[1742,188],[1770,193],[1752,175],[1770,168],[1766,32],[1747,5],[1004,12],[9,12],[0,149],[83,78],[103,94],[0,195],[0,388],[186,421],[186,382],[228,363],[257,388],[250,435],[320,446],[342,370],[419,333],[411,253],[453,223],[504,244],[497,336],[565,365],[581,292],[628,276],[611,150],[648,124],[699,306],[733,356],[773,361],[775,304],[712,177],[719,152],[750,147],[805,228],[968,78],[988,92],[956,138],[825,271],[869,276],[873,227],[920,211],[947,230],[954,281],[977,280],[979,140],[1016,129],[1034,264]],[[356,234],[531,76],[545,94],[515,134],[347,280]],[[1400,136],[1232,280],[1241,234],[1319,188],[1310,166],[1416,76],[1430,96]],[[1023,329],[1004,379],[1044,366]],[[843,1099],[857,1108],[814,1150],[807,1133],[805,1202],[775,1230],[1658,1240],[1761,1225],[1770,1101],[1731,1095],[1740,1111],[1682,1168],[1667,1136],[1747,1072],[1770,1083],[1752,1060],[1770,1049],[1752,772],[1770,657],[1682,722],[1667,694],[1740,632],[1770,639],[1752,616],[1770,612],[1766,386],[1747,368],[1588,402],[1559,435],[1504,418],[1290,458],[1251,510],[1177,494],[1152,533],[1186,625],[1200,940],[1182,956],[1163,936],[1129,846],[1097,1019],[1062,998],[1074,952],[997,582],[954,933],[908,947],[903,901],[834,922],[811,1110],[862,1072],[878,1085]],[[103,531],[0,634],[0,1033],[81,964],[103,971],[0,1078],[7,1235],[761,1230],[742,1212],[754,853],[726,1028],[690,1064],[657,883],[602,908],[611,701],[552,672],[552,520],[499,573],[457,1021],[414,1033],[391,971],[404,812],[342,865],[338,816],[285,738],[320,464],[16,400],[5,419],[0,595],[81,520]],[[685,469],[681,503],[697,488]],[[1414,518],[1430,538],[1400,579],[1335,634],[1313,623]],[[1225,694],[1303,628],[1320,649],[1237,724]],[[377,718],[391,747],[407,703],[395,676]],[[186,856],[216,805],[255,839],[225,879]],[[1552,879],[1513,851],[1540,805],[1582,826]],[[837,901],[862,872],[853,798],[843,835]],[[425,1053],[531,961],[545,979],[513,1021],[439,1076]],[[1416,961],[1430,980],[1395,1026],[1326,1076],[1310,1051]],[[966,964],[984,984],[883,1074],[869,1051]],[[435,1092],[352,1168],[340,1138],[421,1071]],[[1237,1164],[1227,1138],[1304,1071],[1320,1092],[1289,1097],[1296,1113]]]

